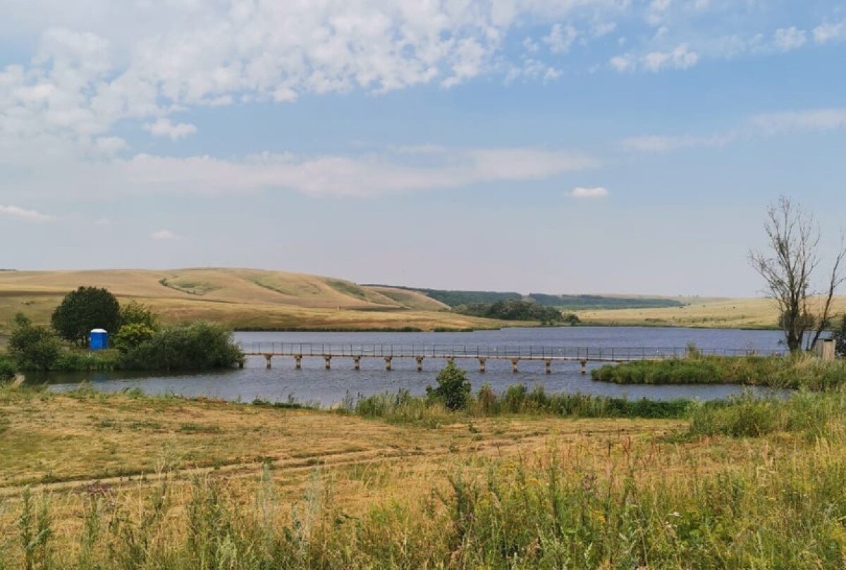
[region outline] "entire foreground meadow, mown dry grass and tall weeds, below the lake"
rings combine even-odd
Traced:
[[[0,567],[846,563],[839,394],[509,392],[342,412],[3,389]]]

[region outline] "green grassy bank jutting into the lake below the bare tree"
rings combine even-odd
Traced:
[[[617,384],[741,384],[815,391],[846,385],[846,361],[823,362],[809,355],[692,356],[602,366],[596,381]]]

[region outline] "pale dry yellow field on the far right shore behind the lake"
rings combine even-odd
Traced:
[[[846,297],[836,299],[834,313],[846,311]],[[706,328],[776,328],[778,309],[772,299],[703,299],[663,309],[591,310],[579,313],[587,323],[602,325],[698,326]]]

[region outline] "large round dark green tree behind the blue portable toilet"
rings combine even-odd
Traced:
[[[63,339],[88,346],[91,329],[117,332],[120,304],[112,293],[96,287],[80,287],[68,293],[52,315],[52,326]]]

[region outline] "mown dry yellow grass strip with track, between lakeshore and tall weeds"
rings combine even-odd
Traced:
[[[470,422],[472,429],[470,429]],[[166,458],[184,476],[215,469],[255,474],[261,463],[296,473],[316,465],[438,463],[451,454],[542,448],[558,441],[654,436],[680,425],[645,419],[473,419],[437,429],[347,414],[179,397],[0,392],[0,496],[21,485],[75,488],[149,478]]]

